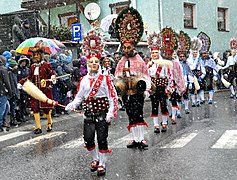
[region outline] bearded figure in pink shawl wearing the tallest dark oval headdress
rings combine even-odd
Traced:
[[[118,15],[116,28],[122,44],[123,57],[115,70],[115,86],[120,91],[129,119],[129,131],[133,140],[127,148],[146,148],[144,127],[147,123],[143,117],[144,95],[149,97],[151,80],[143,59],[135,51],[134,46],[143,34],[143,22],[139,12],[126,8]]]

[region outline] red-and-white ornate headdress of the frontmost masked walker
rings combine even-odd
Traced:
[[[101,34],[95,30],[91,30],[84,37],[82,45],[84,55],[90,59],[91,57],[101,58],[101,54],[104,51],[104,43],[101,38]]]

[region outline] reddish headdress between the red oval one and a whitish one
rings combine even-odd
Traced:
[[[183,31],[180,31],[178,34],[178,49],[177,54],[180,55],[185,54],[187,55],[191,46],[191,38],[189,35]]]

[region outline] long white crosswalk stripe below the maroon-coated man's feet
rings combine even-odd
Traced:
[[[67,133],[62,132],[62,131],[51,132],[51,133],[48,133],[48,134],[45,134],[45,135],[42,135],[42,136],[38,136],[38,137],[35,137],[35,138],[32,138],[32,139],[20,142],[20,143],[15,144],[15,145],[11,145],[9,147],[10,148],[15,148],[15,147],[26,147],[26,146],[30,146],[30,145],[35,145],[35,144],[37,144],[41,141],[44,141],[46,139],[51,139],[51,138],[56,137],[56,136],[60,136],[62,134],[67,134]]]

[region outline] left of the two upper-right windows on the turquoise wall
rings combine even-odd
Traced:
[[[184,27],[195,28],[195,4],[184,3]]]

